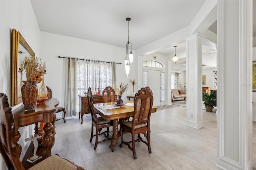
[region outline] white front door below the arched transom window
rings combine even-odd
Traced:
[[[149,70],[148,71],[148,87],[153,92],[154,102],[153,106],[161,105],[161,89],[160,89],[160,71],[159,70]]]

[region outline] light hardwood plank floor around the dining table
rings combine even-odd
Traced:
[[[216,108],[214,108],[216,112]],[[128,146],[114,152],[109,148],[110,140],[100,143],[94,150],[95,137],[90,140],[91,117],[84,115],[81,125],[78,118],[57,121],[55,144],[52,154],[59,153],[87,170],[218,170],[217,163],[217,115],[203,112],[204,127],[197,130],[186,126],[186,107],[152,113],[150,141],[152,153],[146,144],[136,143],[137,159],[133,159]],[[253,123],[254,166],[256,166],[256,123]],[[95,129],[95,128],[94,128]],[[112,128],[110,128],[112,131]],[[110,132],[110,135],[111,132]],[[102,136],[100,137],[100,139]],[[124,139],[130,141],[130,134]]]

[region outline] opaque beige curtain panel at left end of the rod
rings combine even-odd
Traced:
[[[78,113],[77,103],[77,79],[76,79],[77,59],[66,58],[66,85],[65,85],[65,110],[66,117]]]

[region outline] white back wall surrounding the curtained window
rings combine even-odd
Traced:
[[[125,42],[124,42],[125,43]],[[128,91],[124,93],[123,99],[132,94],[132,85],[130,79],[136,80],[136,87],[138,87],[138,79],[135,75],[137,72],[137,57],[134,51],[134,63],[130,68],[129,77],[126,77],[124,59],[126,57],[126,49],[106,45],[97,42],[91,42],[78,38],[71,38],[57,34],[50,34],[41,32],[41,58],[46,61],[46,75],[45,84],[52,89],[52,97],[60,101],[59,106],[64,106],[64,92],[65,92],[65,68],[66,59],[62,57],[79,57],[86,59],[98,59],[102,61],[116,61],[117,67],[117,84],[128,83]],[[134,87],[134,90],[137,91]],[[58,115],[57,115],[58,117]]]

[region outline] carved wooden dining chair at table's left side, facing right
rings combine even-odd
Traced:
[[[106,121],[102,117],[97,116],[93,106],[92,89],[90,87],[88,88],[88,92],[87,92],[87,101],[88,101],[88,106],[92,116],[92,132],[91,132],[90,142],[92,142],[93,136],[96,136],[95,145],[94,145],[94,150],[95,150],[97,148],[98,143],[105,142],[106,140],[111,140],[111,138],[108,137],[109,136],[108,132],[109,132],[109,127],[112,126],[113,124],[112,124],[112,121]],[[93,134],[93,127],[96,128],[95,134]],[[107,130],[104,132],[100,132],[102,128],[107,128]],[[106,139],[98,141],[98,135],[101,135],[101,134],[103,134],[106,137]]]

